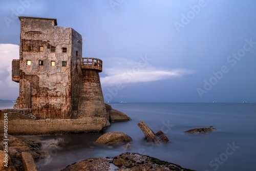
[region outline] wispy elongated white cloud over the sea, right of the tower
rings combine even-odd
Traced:
[[[194,73],[186,69],[159,69],[151,66],[150,59],[140,56],[139,61],[125,58],[106,58],[103,60],[103,72],[108,75],[101,77],[102,86],[114,86],[117,83],[151,82],[172,77],[182,77]]]

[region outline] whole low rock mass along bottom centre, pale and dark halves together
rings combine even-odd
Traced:
[[[182,168],[180,165],[169,163],[166,161],[159,160],[154,157],[144,156],[136,153],[123,153],[116,157],[97,157],[90,158],[87,160],[79,161],[70,166],[67,166],[61,171],[188,171],[190,169]],[[193,170],[190,170],[193,171]]]

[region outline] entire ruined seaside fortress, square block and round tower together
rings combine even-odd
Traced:
[[[82,57],[82,36],[57,27],[54,18],[19,16],[19,59],[12,80],[19,83],[15,109],[37,119],[106,117],[99,72],[102,60]]]

